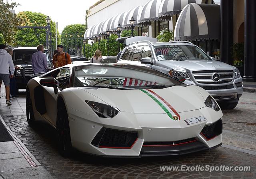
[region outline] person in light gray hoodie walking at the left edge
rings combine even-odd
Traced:
[[[11,74],[9,72],[9,67]],[[10,78],[13,78],[14,70],[12,56],[7,53],[6,45],[0,44],[0,80],[4,82],[7,105],[12,105],[10,101]]]

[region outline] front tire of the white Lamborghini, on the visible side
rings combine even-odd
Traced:
[[[72,153],[68,113],[65,105],[61,104],[57,112],[57,145],[60,154],[68,157]]]

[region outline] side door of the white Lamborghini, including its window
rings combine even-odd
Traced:
[[[54,89],[50,87],[44,87],[45,93],[44,98],[46,103],[46,113],[43,114],[43,116],[50,121],[54,126],[56,126],[56,117],[57,117],[57,101],[59,93],[64,90],[65,88],[68,88],[69,86],[69,80],[70,80],[70,68],[61,68],[58,74],[55,74],[52,76],[52,78],[55,78],[58,82],[57,88],[58,93],[54,93]]]

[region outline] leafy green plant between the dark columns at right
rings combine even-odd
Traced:
[[[232,46],[233,65],[238,68],[241,76],[244,75],[244,42],[235,43]]]

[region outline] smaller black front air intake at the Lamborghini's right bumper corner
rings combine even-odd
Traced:
[[[210,140],[222,133],[222,120],[219,119],[215,123],[204,126],[201,131],[201,135],[206,139]]]

